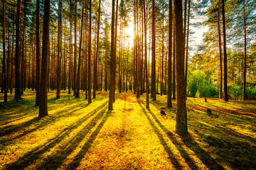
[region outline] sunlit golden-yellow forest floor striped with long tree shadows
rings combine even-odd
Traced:
[[[44,118],[35,96],[4,103],[0,94],[0,169],[256,169],[256,101],[188,98],[189,135],[180,137],[166,96],[147,109],[145,96],[117,94],[108,111],[108,92],[88,105],[85,92],[56,100],[50,91]]]

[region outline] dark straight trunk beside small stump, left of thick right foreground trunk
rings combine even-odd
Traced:
[[[169,0],[169,49],[168,49],[168,92],[167,92],[167,108],[172,107],[171,103],[171,54],[172,54],[172,0]]]

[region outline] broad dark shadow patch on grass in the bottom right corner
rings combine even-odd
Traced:
[[[226,162],[233,169],[255,169],[256,140],[253,137],[223,126],[198,123],[199,128],[203,133],[198,134],[198,137],[213,148],[216,159]],[[189,137],[183,141],[193,147],[193,141]]]

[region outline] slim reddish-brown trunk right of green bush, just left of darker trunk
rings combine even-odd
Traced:
[[[220,53],[220,92],[219,92],[219,98],[223,98],[223,64],[222,64],[221,33],[220,33],[220,15],[218,15],[218,42],[219,42],[219,50],[220,50],[220,52],[219,52]]]

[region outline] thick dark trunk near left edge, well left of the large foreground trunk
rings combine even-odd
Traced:
[[[15,96],[14,100],[21,99],[21,77],[20,77],[20,38],[21,38],[21,0],[17,2],[17,15],[16,15],[16,49],[15,49]]]

